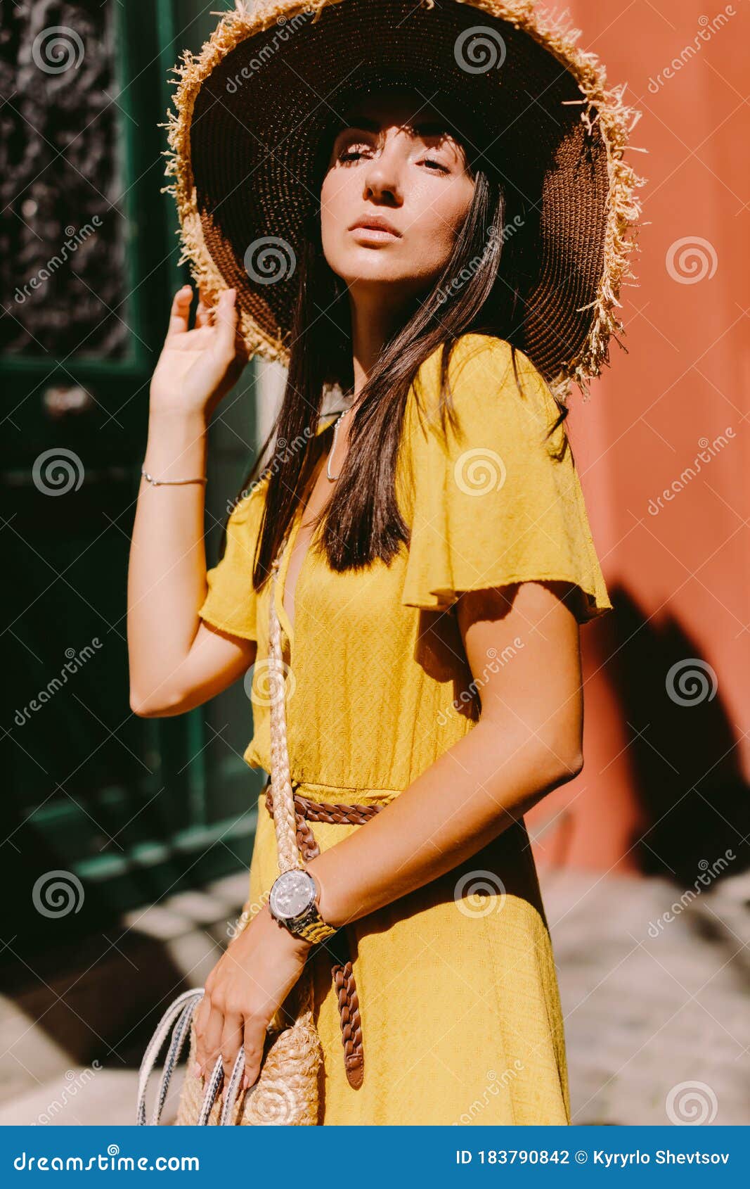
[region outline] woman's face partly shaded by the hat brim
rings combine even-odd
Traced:
[[[459,141],[411,92],[383,92],[346,114],[321,188],[329,266],[353,297],[383,287],[385,300],[429,289],[441,273],[474,193]],[[368,220],[392,228],[357,227]]]

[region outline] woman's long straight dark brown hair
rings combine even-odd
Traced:
[[[456,136],[453,125],[450,131]],[[321,182],[330,144],[330,136],[321,140]],[[535,247],[537,209],[517,187],[506,185],[481,153],[477,159],[474,150],[472,157],[466,144],[465,152],[475,183],[466,220],[441,276],[406,310],[403,325],[384,344],[357,396],[347,455],[317,521],[316,541],[335,571],[366,566],[376,558],[389,564],[402,541],[409,545],[409,526],[396,498],[396,465],[412,384],[420,408],[417,377],[424,360],[442,345],[440,413],[445,428],[446,414],[453,416],[448,366],[458,339],[466,333],[502,334],[515,351],[513,340],[523,326],[522,262]],[[315,435],[326,388],[338,385],[344,394],[353,390],[349,302],[346,285],[323,256],[320,207],[311,212],[302,238],[298,276],[281,410],[241,489],[247,491],[259,478],[267,478],[252,575],[256,590],[267,578],[315,466]],[[560,401],[557,405],[560,416],[549,433],[568,413]],[[277,442],[272,464],[261,468],[272,440]]]

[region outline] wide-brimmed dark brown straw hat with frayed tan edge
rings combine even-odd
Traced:
[[[586,396],[623,329],[642,180],[623,156],[638,113],[579,36],[534,0],[237,0],[174,68],[164,190],[179,263],[209,304],[237,288],[251,356],[286,364],[323,132],[353,89],[401,81],[478,117],[486,159],[534,222],[512,341],[563,398],[571,380]]]

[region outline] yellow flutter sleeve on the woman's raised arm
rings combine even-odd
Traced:
[[[266,486],[261,480],[233,508],[223,555],[206,573],[208,593],[198,610],[198,616],[214,628],[244,640],[258,638],[252,572]]]

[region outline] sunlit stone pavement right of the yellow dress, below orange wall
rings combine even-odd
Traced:
[[[687,902],[656,877],[540,882],[573,1122],[748,1125],[750,873]]]

